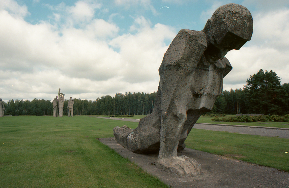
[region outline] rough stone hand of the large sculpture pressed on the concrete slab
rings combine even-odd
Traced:
[[[201,164],[185,155],[158,159],[157,167],[177,176],[194,177],[201,174]]]

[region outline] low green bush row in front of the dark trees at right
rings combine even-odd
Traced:
[[[215,117],[211,119],[211,121],[227,121],[227,122],[257,122],[257,121],[281,121],[286,122],[289,121],[289,114],[285,116],[236,116],[236,117],[227,117],[227,118],[218,118]]]

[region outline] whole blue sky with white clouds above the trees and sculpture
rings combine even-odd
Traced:
[[[288,0],[0,0],[0,98],[95,100],[157,91],[158,68],[180,29],[202,30],[219,7],[253,16],[251,41],[226,57],[224,90],[273,70],[289,82]]]

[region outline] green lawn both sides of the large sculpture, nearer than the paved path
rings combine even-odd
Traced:
[[[1,117],[0,185],[167,187],[96,139],[113,137],[112,128],[123,125],[136,128],[138,123],[90,116]],[[289,171],[289,139],[193,129],[185,143],[192,149]]]

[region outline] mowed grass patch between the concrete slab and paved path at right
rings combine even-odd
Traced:
[[[289,172],[286,138],[192,129],[185,144],[188,148]]]

